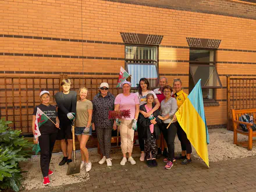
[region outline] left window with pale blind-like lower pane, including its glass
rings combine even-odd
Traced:
[[[127,45],[125,47],[125,63],[126,70],[131,75],[132,87],[137,87],[143,77],[150,81],[151,87],[157,86],[157,47]]]

